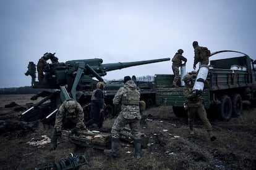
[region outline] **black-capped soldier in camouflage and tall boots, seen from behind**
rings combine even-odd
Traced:
[[[124,77],[124,87],[120,87],[114,96],[113,103],[121,105],[121,112],[117,116],[111,129],[112,144],[110,150],[104,150],[106,155],[117,156],[117,148],[119,147],[119,132],[129,124],[132,136],[134,137],[135,157],[140,158],[141,139],[139,133],[140,119],[140,93],[137,86],[130,76]]]

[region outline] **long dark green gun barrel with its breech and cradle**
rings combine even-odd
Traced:
[[[169,58],[142,60],[138,62],[118,62],[103,64],[102,59],[69,60],[65,63],[54,62],[44,68],[45,78],[43,82],[36,82],[35,64],[30,62],[28,71],[25,75],[32,76],[32,87],[41,89],[59,89],[60,86],[66,86],[68,92],[75,99],[76,89],[93,89],[93,77],[98,81],[103,81],[101,76],[105,76],[108,71],[119,70],[137,65],[149,63],[164,62]]]

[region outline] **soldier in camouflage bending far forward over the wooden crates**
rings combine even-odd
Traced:
[[[58,113],[56,114],[55,125],[53,129],[53,134],[51,136],[51,150],[57,148],[57,139],[61,137],[61,130],[63,126],[72,126],[75,129],[72,132],[76,132],[78,129],[86,129],[83,123],[84,115],[83,108],[79,102],[74,99],[68,99],[62,103],[59,107]]]

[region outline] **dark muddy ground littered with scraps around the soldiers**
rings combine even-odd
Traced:
[[[11,115],[22,113],[4,105],[15,102],[25,106],[29,99],[29,95],[0,95],[1,123],[3,120],[11,123],[15,121]],[[121,142],[118,158],[111,158],[102,150],[70,143],[69,131],[64,131],[58,148],[49,151],[49,143],[33,146],[27,142],[41,140],[44,135],[50,137],[51,126],[38,123],[36,127],[3,131],[1,124],[0,169],[40,168],[67,158],[69,153],[85,153],[90,165],[80,169],[256,169],[256,110],[248,103],[239,118],[228,122],[210,119],[217,137],[214,142],[200,120],[195,121],[195,135],[191,136],[186,118],[177,118],[171,107],[151,108],[143,115],[147,121],[141,124],[140,131],[147,135],[148,141],[139,160],[134,158],[134,147],[127,142]],[[101,130],[109,132],[113,121],[107,119]]]

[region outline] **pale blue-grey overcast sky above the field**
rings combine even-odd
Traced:
[[[254,0],[0,3],[0,87],[30,86],[30,76],[24,75],[28,62],[37,63],[45,52],[56,52],[59,62],[101,58],[103,63],[116,63],[172,58],[183,49],[188,60],[186,69],[191,71],[192,42],[198,41],[211,52],[234,50],[256,59]],[[171,64],[168,61],[109,71],[103,78],[173,74]]]

